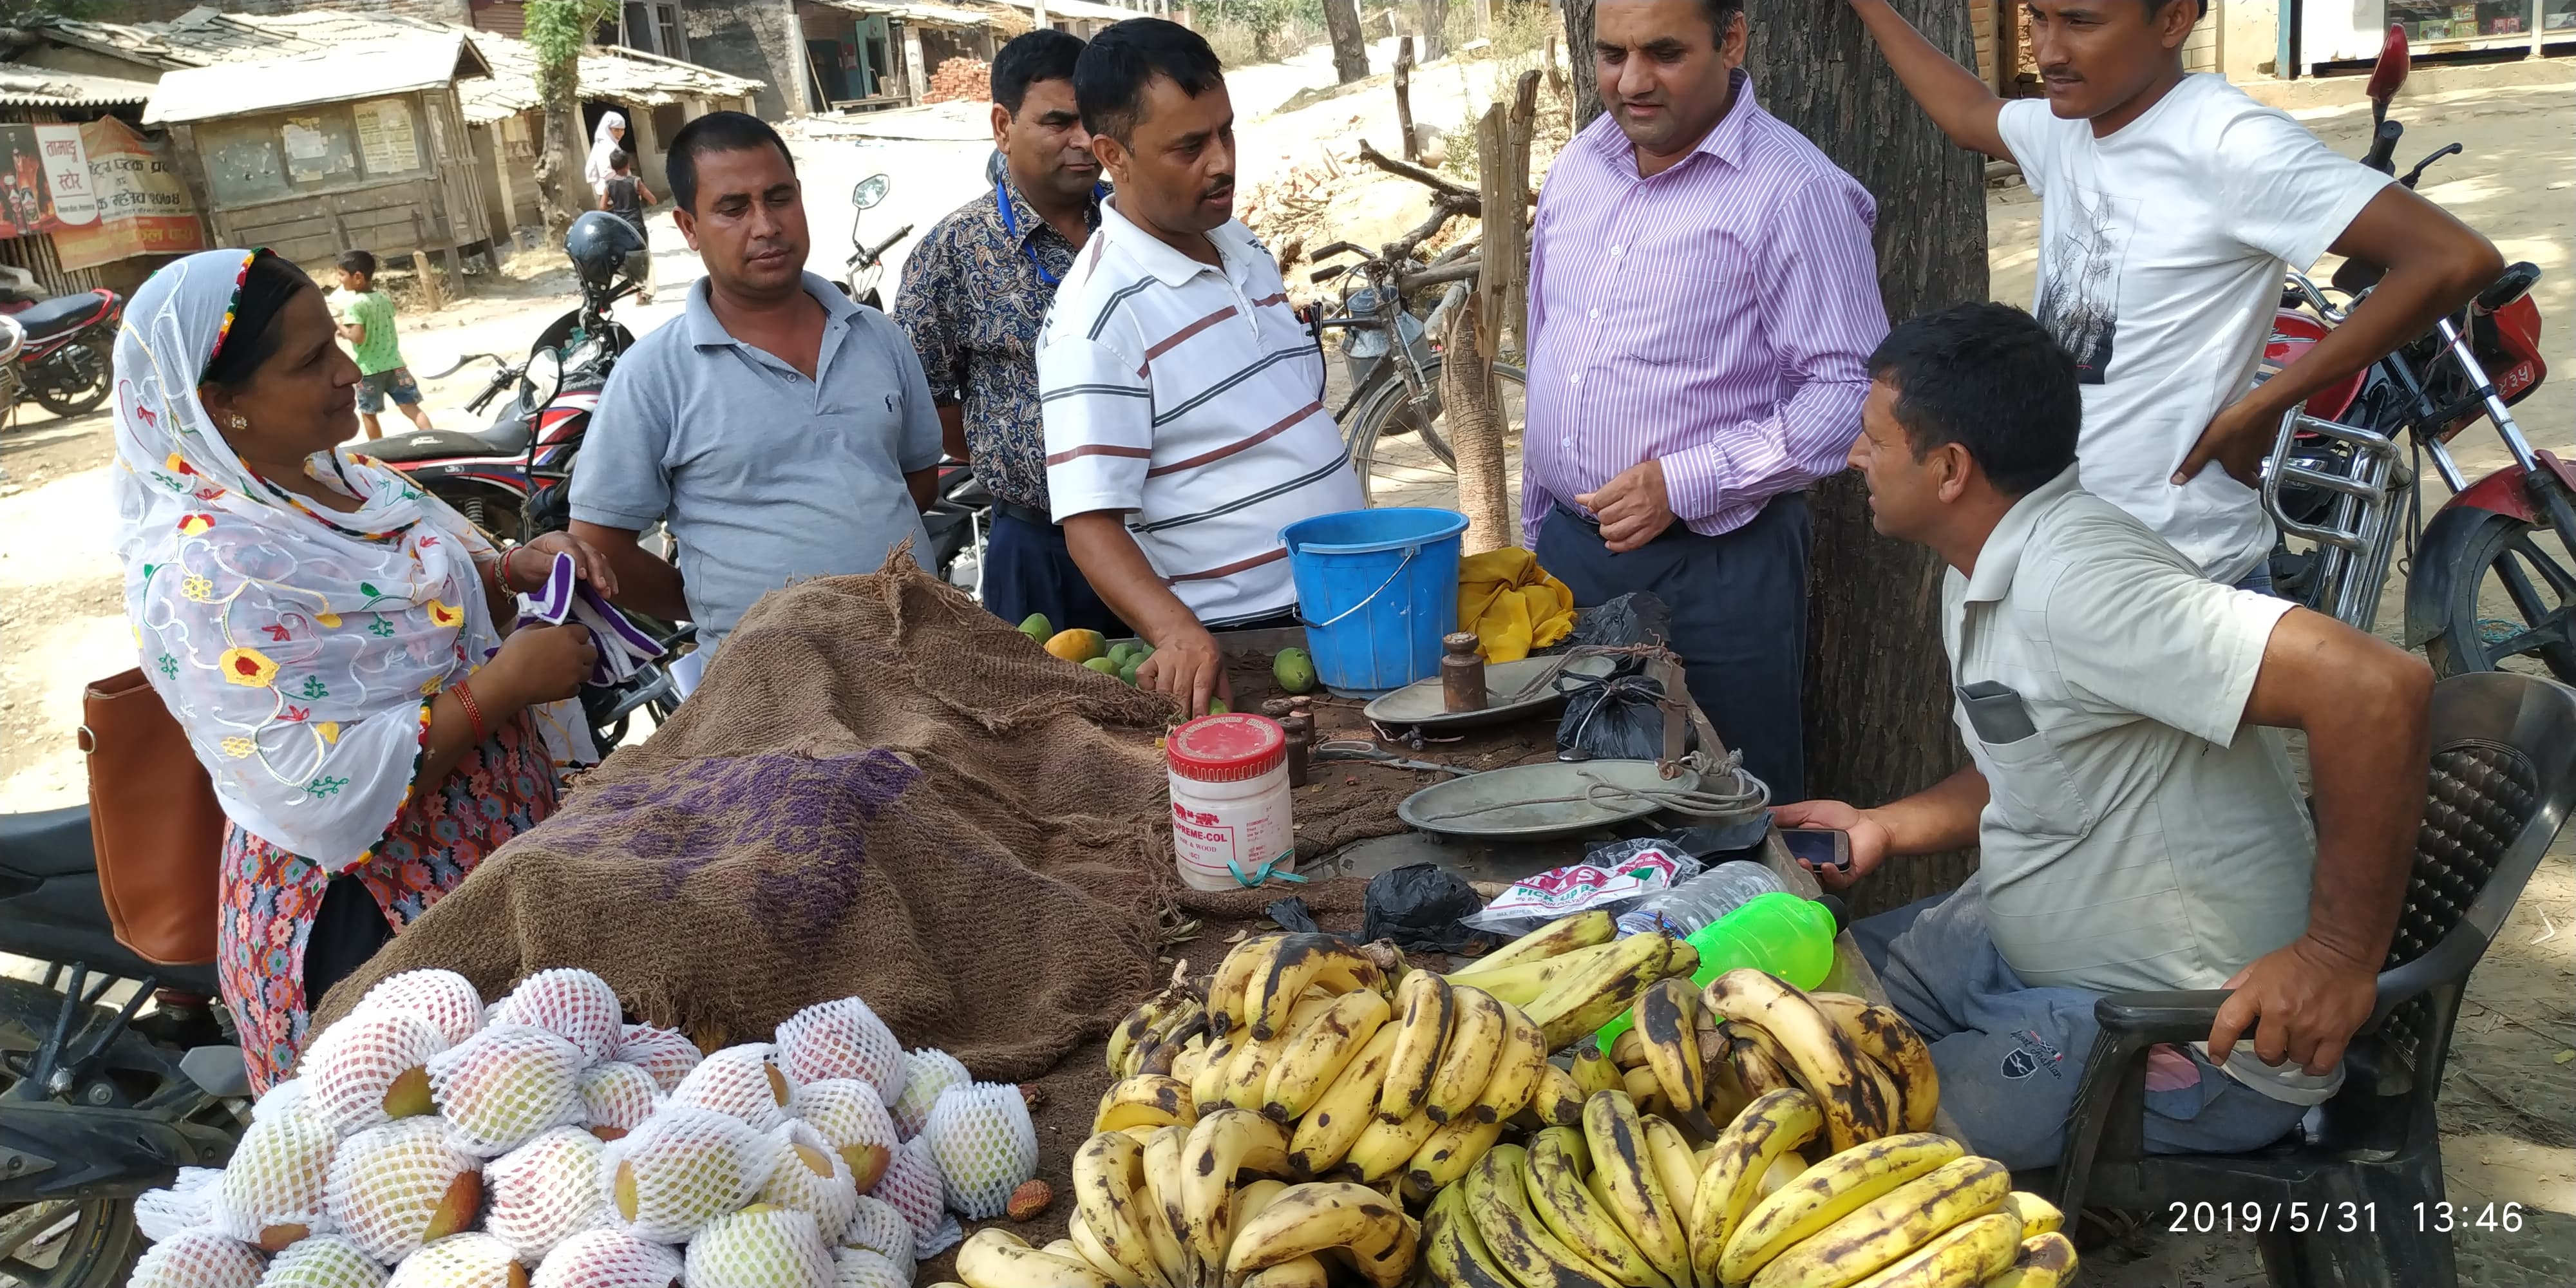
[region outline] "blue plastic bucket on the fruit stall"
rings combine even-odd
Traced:
[[[1458,629],[1458,510],[1342,510],[1280,528],[1324,688],[1373,698],[1440,672]]]

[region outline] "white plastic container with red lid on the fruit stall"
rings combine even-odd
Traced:
[[[1200,716],[1172,729],[1164,762],[1172,768],[1172,855],[1190,889],[1244,889],[1296,871],[1288,734],[1278,721]]]

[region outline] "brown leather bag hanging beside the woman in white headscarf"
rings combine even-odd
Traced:
[[[224,806],[142,667],[80,696],[90,845],[116,943],[160,966],[214,961]]]

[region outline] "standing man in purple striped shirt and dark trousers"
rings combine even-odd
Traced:
[[[1806,796],[1806,497],[1888,335],[1870,193],[1754,103],[1741,0],[1600,0],[1602,106],[1530,237],[1522,536],[1577,603],[1651,590],[1718,737]]]

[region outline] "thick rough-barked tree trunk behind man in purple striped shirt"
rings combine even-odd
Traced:
[[[1965,0],[1896,8],[1973,67]],[[1984,165],[1906,98],[1850,5],[1752,0],[1749,21],[1744,62],[1759,103],[1878,201],[1888,319],[1986,299]],[[1855,804],[1893,801],[1965,762],[1940,639],[1942,564],[1924,546],[1878,536],[1852,474],[1816,484],[1811,502],[1806,786]],[[1971,871],[1973,853],[1891,863],[1855,891],[1855,912],[1947,891]]]

